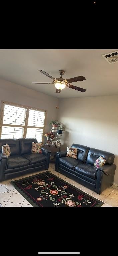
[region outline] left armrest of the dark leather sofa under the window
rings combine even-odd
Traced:
[[[4,180],[5,170],[8,163],[8,157],[0,153],[0,182]]]

